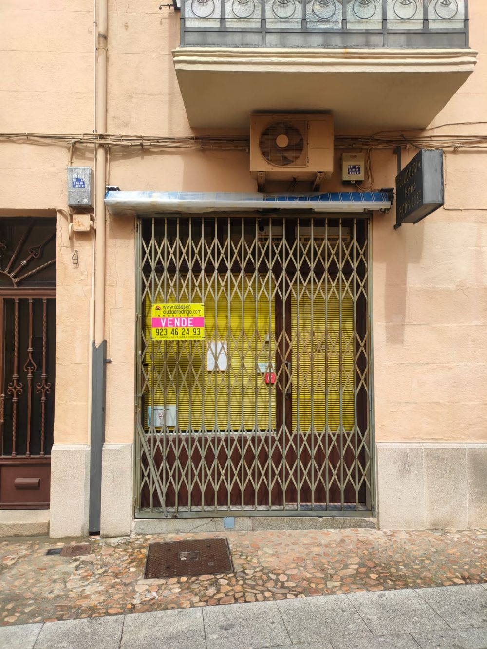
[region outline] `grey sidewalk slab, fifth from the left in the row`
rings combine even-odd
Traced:
[[[370,635],[346,595],[278,600],[277,607],[294,644]]]

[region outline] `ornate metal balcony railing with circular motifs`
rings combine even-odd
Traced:
[[[181,45],[468,47],[468,0],[182,0]]]

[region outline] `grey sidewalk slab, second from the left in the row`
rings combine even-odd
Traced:
[[[35,649],[118,649],[123,615],[46,622]]]

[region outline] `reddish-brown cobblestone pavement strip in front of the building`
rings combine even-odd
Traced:
[[[235,572],[144,580],[149,543],[222,536],[229,539]],[[1,626],[487,582],[486,530],[229,531],[90,543],[92,554],[62,557],[46,556],[65,543],[45,537],[1,542]]]

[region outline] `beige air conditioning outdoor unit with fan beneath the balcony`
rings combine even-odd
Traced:
[[[250,171],[259,182],[318,180],[333,173],[333,117],[329,114],[251,116]]]

